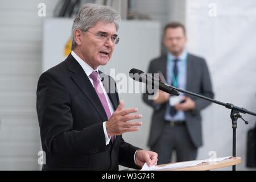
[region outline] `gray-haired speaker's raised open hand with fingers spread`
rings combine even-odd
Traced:
[[[136,113],[137,108],[129,108],[123,110],[123,101],[120,101],[117,110],[114,111],[112,117],[106,122],[106,130],[109,137],[114,135],[121,135],[130,131],[138,131],[142,122],[128,122],[132,119],[142,118],[141,114],[130,114]]]

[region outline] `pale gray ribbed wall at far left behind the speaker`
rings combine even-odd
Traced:
[[[0,1],[0,170],[39,169],[36,84],[42,61],[42,20],[57,0]]]

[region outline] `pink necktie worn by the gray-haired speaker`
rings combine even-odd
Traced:
[[[100,81],[98,80],[98,72],[96,72],[96,71],[92,72],[89,77],[92,78],[92,80],[93,80],[94,89],[96,90],[98,98],[100,98],[101,104],[104,107],[106,115],[108,116],[108,119],[109,119],[112,114],[110,112],[109,105],[108,105],[108,102],[106,101],[104,92],[101,88]],[[111,137],[112,143],[114,142],[114,138],[115,138],[115,136]]]

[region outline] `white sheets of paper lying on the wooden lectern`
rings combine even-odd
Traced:
[[[192,167],[202,163],[214,163],[219,162],[225,159],[232,158],[232,156],[224,157],[224,158],[214,158],[214,159],[205,159],[205,160],[192,160],[188,162],[180,162],[174,164],[167,164],[166,166],[151,166],[148,167],[147,163],[144,163],[141,171],[153,171],[153,170],[160,170],[160,169],[171,169],[171,168],[183,168],[183,167]]]

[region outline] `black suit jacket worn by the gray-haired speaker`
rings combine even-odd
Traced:
[[[106,78],[103,83],[108,93],[110,83],[115,86],[115,82]],[[108,96],[116,109],[118,93]],[[102,122],[108,117],[88,76],[71,54],[40,76],[36,109],[46,152],[43,170],[118,170],[118,164],[138,168],[134,164],[138,148],[126,143],[122,135],[106,146]]]

